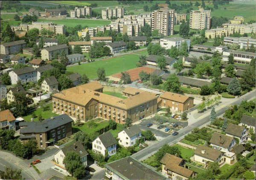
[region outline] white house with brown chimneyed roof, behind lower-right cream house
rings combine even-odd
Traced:
[[[209,143],[213,149],[217,149],[221,152],[227,153],[230,152],[231,148],[236,144],[236,140],[231,136],[214,132]]]

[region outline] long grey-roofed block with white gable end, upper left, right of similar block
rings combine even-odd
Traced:
[[[68,47],[67,45],[56,45],[56,46],[51,46],[49,48],[45,48],[41,50],[41,58],[44,60],[52,60],[55,53],[61,54],[61,52],[64,51],[66,55],[68,55]]]

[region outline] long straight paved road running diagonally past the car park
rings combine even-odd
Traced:
[[[242,100],[250,100],[255,98],[255,91],[253,90],[250,93],[245,94],[244,96],[241,96],[240,98],[235,99],[226,99],[222,98],[222,103],[219,104],[218,107],[215,108],[216,115],[222,115],[225,110],[229,108],[230,105],[239,104]],[[194,110],[191,112],[190,115],[188,115],[189,118],[189,125],[183,129],[179,130],[179,134],[176,136],[169,135],[168,137],[164,138],[162,141],[159,141],[157,143],[152,144],[151,146],[148,146],[145,149],[140,150],[139,152],[131,155],[133,158],[137,160],[145,160],[146,158],[150,157],[151,155],[154,155],[157,150],[162,147],[165,144],[172,145],[181,139],[184,138],[186,134],[191,132],[195,127],[204,127],[206,124],[210,121],[210,112],[209,110],[206,113],[198,113],[197,110]],[[192,121],[192,122],[191,122]]]

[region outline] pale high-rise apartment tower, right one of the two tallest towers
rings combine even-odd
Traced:
[[[204,8],[199,8],[199,10],[191,11],[189,17],[189,28],[202,30],[204,28],[210,28],[211,21],[211,10],[204,10]]]

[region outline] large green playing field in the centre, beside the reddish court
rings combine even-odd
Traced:
[[[67,70],[77,72],[79,74],[85,73],[89,77],[89,79],[96,79],[98,68],[105,68],[106,76],[110,76],[116,73],[120,73],[123,70],[123,67],[124,70],[137,68],[136,63],[138,61],[139,55],[137,53],[134,53],[111,58],[109,60],[99,60],[95,62],[85,63],[82,65],[68,67]]]

